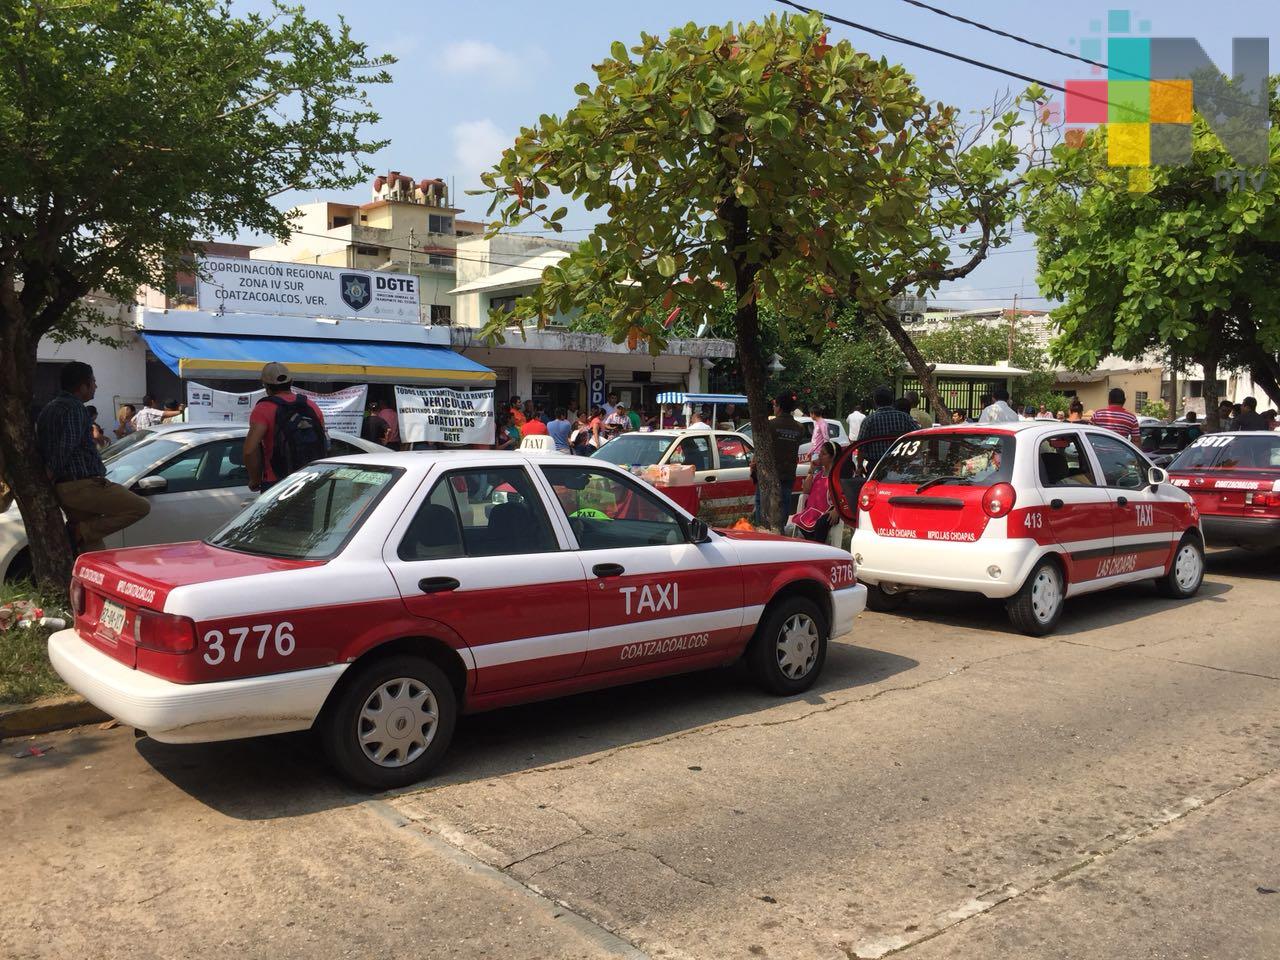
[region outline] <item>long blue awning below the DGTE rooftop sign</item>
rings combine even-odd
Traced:
[[[262,365],[284,364],[300,380],[398,383],[406,385],[492,384],[494,372],[461,353],[419,343],[303,340],[280,337],[219,337],[148,333],[142,339],[184,379],[256,380]]]

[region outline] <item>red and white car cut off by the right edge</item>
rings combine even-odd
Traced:
[[[1280,547],[1280,434],[1198,436],[1169,476],[1196,500],[1211,547]]]

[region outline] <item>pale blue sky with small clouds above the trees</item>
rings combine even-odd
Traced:
[[[1231,37],[1280,35],[1280,5],[1275,0],[1231,0],[1210,4],[1201,0],[1149,0],[1143,5],[1094,3],[972,3],[929,0],[931,5],[980,20],[991,27],[1069,52],[1089,50],[1089,40],[1106,37],[1108,12],[1129,10],[1137,33],[1146,20],[1148,36],[1196,37],[1224,69],[1230,64]],[[372,52],[398,58],[393,82],[372,90],[381,122],[372,131],[390,140],[372,157],[378,170],[399,170],[413,179],[442,177],[456,184],[454,205],[463,218],[484,219],[488,202],[466,196],[479,187],[479,174],[490,166],[522,125],[536,123],[541,114],[563,114],[573,105],[573,86],[593,81],[591,64],[603,59],[614,40],[628,45],[641,31],[666,35],[690,19],[699,23],[730,23],[781,13],[787,8],[772,0],[543,0],[543,3],[410,4],[401,0],[303,0],[310,15],[335,20],[344,17],[357,38]],[[260,6],[260,0],[239,0],[237,9]],[[1088,65],[992,36],[911,5],[908,0],[808,0],[826,13],[964,54],[984,64],[998,65],[1037,79],[1061,84],[1064,79],[1089,78]],[[901,63],[914,74],[924,96],[943,100],[965,113],[975,113],[1006,90],[1020,91],[1025,83],[986,69],[957,63],[933,52],[881,40],[840,24],[832,36],[890,61]],[[1272,47],[1276,47],[1272,44]],[[1105,50],[1105,40],[1103,46]],[[1272,73],[1280,73],[1280,47],[1271,55]],[[282,202],[321,197],[284,197]],[[340,197],[367,201],[369,187]],[[581,228],[593,215],[572,210],[564,221],[566,238],[585,236]],[[952,308],[1046,307],[1036,288],[1033,238],[1020,229],[1012,242],[992,253],[964,280],[943,287],[934,302]]]

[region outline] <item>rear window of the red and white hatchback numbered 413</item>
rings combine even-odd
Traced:
[[[905,436],[876,466],[882,484],[959,484],[989,486],[1007,483],[1014,468],[1014,438],[1007,434],[933,434]]]

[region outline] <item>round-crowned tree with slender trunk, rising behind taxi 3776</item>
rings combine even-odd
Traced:
[[[579,84],[563,118],[522,129],[483,179],[493,232],[530,218],[557,228],[566,207],[548,211],[553,189],[608,219],[543,273],[513,315],[490,315],[485,335],[500,339],[511,319],[544,324],[577,307],[603,317],[617,342],[659,352],[667,330],[657,317],[704,316],[728,291],[762,438],[762,503],[777,529],[760,305],[801,332],[820,332],[846,289],[858,303],[888,298],[884,262],[914,265],[937,251],[942,244],[927,239],[933,224],[972,214],[956,198],[922,223],[956,143],[955,111],[927,104],[902,67],[847,41],[829,44],[815,15],[641,35],[631,49],[614,42],[594,69],[595,86]],[[997,137],[965,170],[1004,168],[1006,146]],[[993,221],[1002,212],[992,205]],[[946,279],[941,269],[925,276],[940,259],[913,274],[919,284]]]

